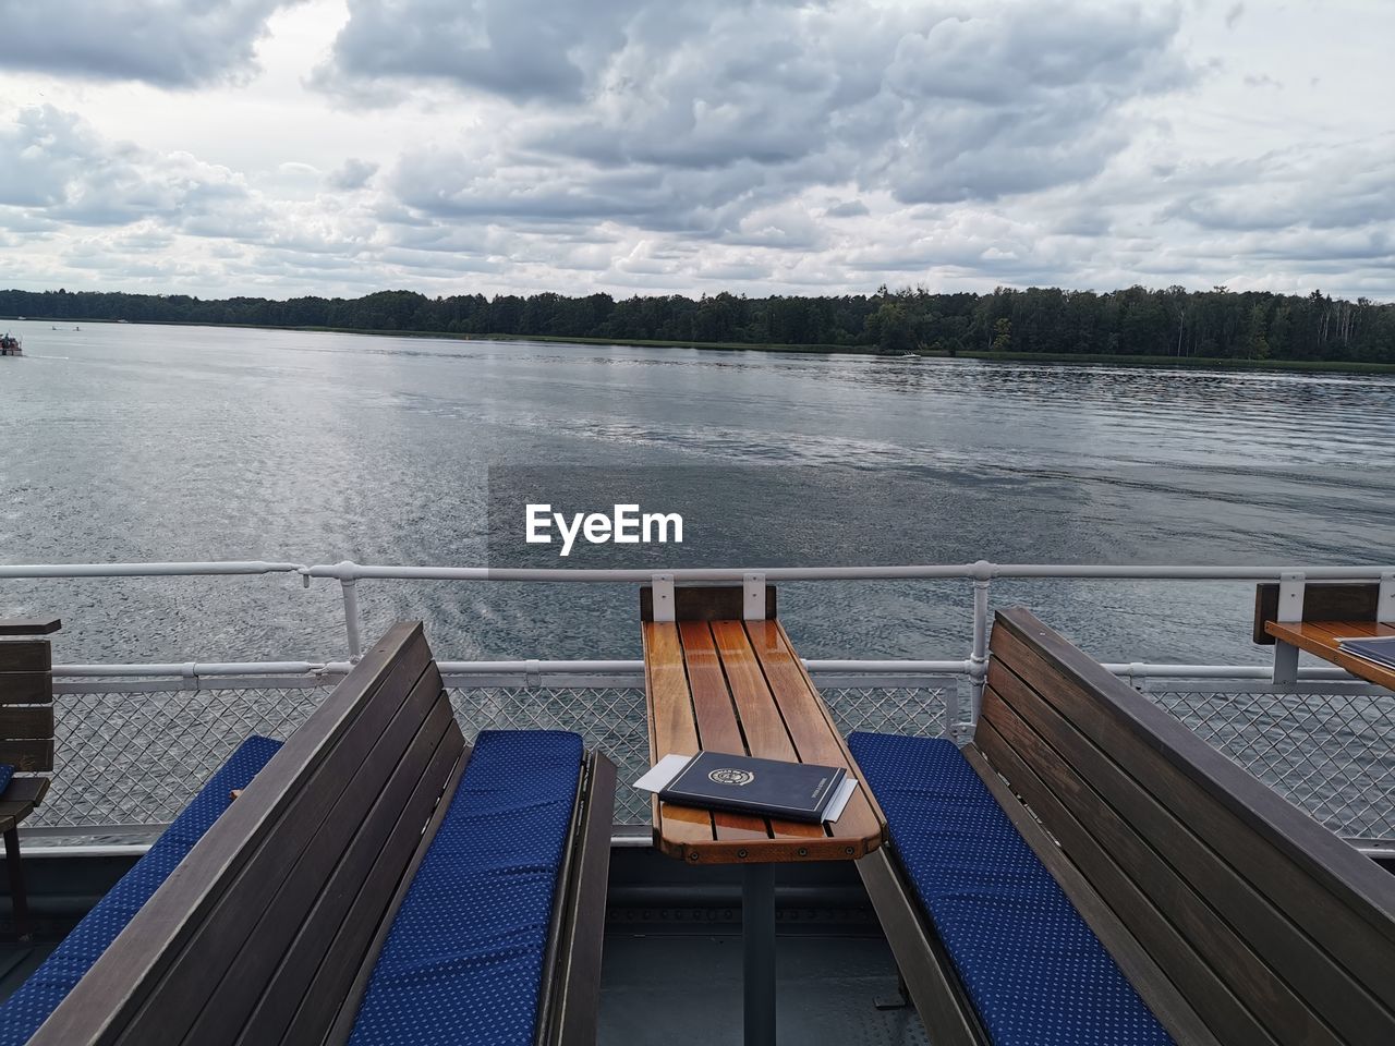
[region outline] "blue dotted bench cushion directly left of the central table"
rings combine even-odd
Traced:
[[[582,739],[484,731],[398,909],[350,1046],[531,1046]]]

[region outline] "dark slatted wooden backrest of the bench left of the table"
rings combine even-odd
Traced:
[[[396,625],[31,1043],[271,1046],[346,1033],[353,1014],[340,1010],[357,1003],[463,752],[421,625]]]

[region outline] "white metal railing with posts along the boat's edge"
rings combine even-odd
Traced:
[[[978,715],[983,682],[988,671],[988,632],[990,586],[999,579],[1060,579],[1060,580],[1173,580],[1187,582],[1278,582],[1281,586],[1281,619],[1302,616],[1304,586],[1309,582],[1370,582],[1380,586],[1381,619],[1395,616],[1395,566],[1099,566],[1099,565],[1041,565],[990,563],[978,561],[964,565],[910,566],[847,566],[847,568],[767,568],[767,569],[495,569],[495,568],[438,568],[384,566],[343,561],[332,565],[301,565],[290,562],[162,562],[162,563],[63,563],[63,565],[7,565],[0,566],[0,582],[7,579],[117,579],[117,577],[212,577],[212,576],[299,576],[306,587],[312,579],[338,580],[340,584],[345,640],[347,657],[322,661],[239,661],[239,662],[160,662],[160,664],[70,664],[54,665],[59,679],[56,692],[67,696],[141,695],[170,692],[280,692],[318,689],[342,676],[357,661],[363,650],[363,628],[359,611],[360,582],[421,580],[459,583],[607,583],[643,584],[678,583],[742,583],[748,589],[766,582],[854,582],[854,580],[968,580],[972,584],[972,637],[967,657],[961,660],[808,660],[805,664],[820,686],[836,686],[847,692],[876,690],[882,695],[929,692],[933,688],[936,715],[942,729],[956,734],[971,729]],[[658,586],[656,584],[656,590]],[[442,661],[442,675],[458,688],[455,693],[506,692],[513,695],[562,690],[569,693],[633,690],[643,686],[643,662],[638,660],[513,660],[513,661]],[[1278,644],[1272,667],[1267,665],[1196,665],[1196,664],[1108,664],[1108,669],[1144,689],[1163,689],[1161,681],[1190,681],[1166,693],[1194,695],[1207,700],[1236,693],[1282,693],[1313,696],[1331,707],[1346,708],[1339,724],[1360,727],[1362,714],[1342,704],[1348,697],[1381,697],[1378,688],[1355,681],[1335,667],[1299,667],[1296,651]],[[954,685],[946,686],[950,681]],[[954,682],[957,681],[957,683]],[[1212,681],[1209,685],[1207,681]],[[960,685],[964,692],[960,693]],[[1190,688],[1190,689],[1189,689]],[[1198,689],[1200,688],[1200,689]],[[212,699],[215,695],[211,693]],[[870,699],[869,699],[870,700]],[[1177,708],[1186,702],[1173,700]],[[1186,706],[1190,707],[1190,706]],[[1352,706],[1355,707],[1355,706]],[[1380,732],[1388,734],[1395,715],[1381,704]],[[1311,714],[1306,713],[1310,718]],[[1235,722],[1233,717],[1225,720]],[[173,725],[173,724],[172,724]],[[1260,729],[1251,727],[1251,732]],[[1341,732],[1341,731],[1338,731]],[[1370,732],[1370,727],[1367,728]],[[1251,759],[1251,756],[1244,756]],[[1253,756],[1253,767],[1262,773],[1264,752]],[[1377,768],[1384,767],[1381,761]],[[1304,780],[1313,771],[1304,770]],[[1371,771],[1374,773],[1374,771]],[[1371,778],[1374,780],[1374,778]],[[1382,778],[1385,780],[1385,778]],[[1395,770],[1389,780],[1395,780]],[[1388,781],[1385,785],[1387,787]],[[1377,799],[1395,808],[1395,798]],[[1345,814],[1343,814],[1345,816]],[[1341,823],[1341,819],[1338,821]],[[1334,824],[1335,824],[1334,823]]]

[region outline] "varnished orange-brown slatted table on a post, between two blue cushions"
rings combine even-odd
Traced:
[[[643,629],[651,761],[704,749],[841,766],[858,780],[834,824],[700,810],[654,798],[658,849],[691,865],[745,865],[745,1040],[773,1045],[773,867],[861,858],[886,841],[886,817],[778,621],[646,621]]]

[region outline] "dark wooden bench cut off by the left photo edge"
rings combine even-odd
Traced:
[[[0,618],[0,833],[20,940],[29,936],[29,914],[18,826],[43,801],[53,771],[53,651],[35,636],[60,628],[57,618]]]

